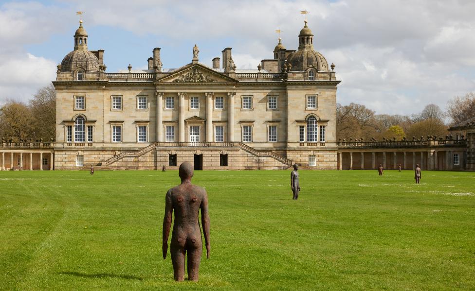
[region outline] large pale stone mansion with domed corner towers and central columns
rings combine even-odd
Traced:
[[[274,58],[254,70],[237,69],[231,48],[209,68],[195,45],[181,68],[164,68],[155,48],[148,69],[109,73],[88,37],[80,23],[74,50],[57,66],[55,169],[173,169],[183,161],[195,169],[336,169],[340,81],[314,50],[307,21],[298,50],[279,38]]]

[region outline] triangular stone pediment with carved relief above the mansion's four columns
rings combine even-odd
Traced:
[[[201,64],[188,64],[170,75],[158,80],[158,83],[236,83],[237,80],[221,74]]]

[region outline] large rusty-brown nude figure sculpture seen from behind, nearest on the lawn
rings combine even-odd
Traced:
[[[200,209],[207,258],[209,258],[211,250],[208,196],[203,188],[191,184],[191,178],[193,177],[193,165],[191,163],[184,162],[180,165],[179,176],[182,183],[166,192],[162,252],[165,259],[171,220],[173,212],[175,212],[175,222],[173,223],[170,242],[173,274],[175,280],[184,280],[185,253],[188,253],[188,280],[198,281],[202,252],[201,229],[198,223]]]

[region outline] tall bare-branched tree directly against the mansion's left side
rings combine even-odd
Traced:
[[[35,137],[50,140],[56,137],[56,99],[53,85],[38,89],[30,100],[30,108],[35,121]]]

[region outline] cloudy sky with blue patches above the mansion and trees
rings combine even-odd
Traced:
[[[161,48],[164,68],[200,62],[233,48],[238,69],[272,59],[277,44],[296,50],[303,27],[314,48],[336,65],[337,102],[377,114],[411,115],[428,103],[442,109],[475,91],[475,1],[472,0],[0,0],[0,104],[27,102],[55,80],[73,50],[76,11],[84,11],[89,50],[104,49],[108,72],[147,67]]]

